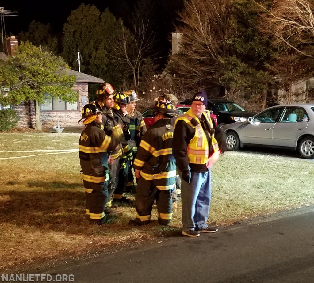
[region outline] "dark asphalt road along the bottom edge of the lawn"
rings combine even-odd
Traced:
[[[292,210],[37,273],[74,282],[314,282],[313,218],[314,207]]]

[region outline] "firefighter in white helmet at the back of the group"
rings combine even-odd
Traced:
[[[129,125],[129,131],[131,134],[130,145],[133,150],[133,159],[131,161],[131,167],[129,171],[126,191],[132,193],[135,189],[132,165],[135,159],[135,155],[136,155],[139,143],[144,133],[146,132],[146,126],[145,126],[145,122],[143,120],[142,114],[135,108],[136,102],[139,101],[136,92],[134,90],[128,90],[123,93],[129,96],[129,103],[127,104],[127,112],[129,113],[129,116],[130,116],[130,125]]]

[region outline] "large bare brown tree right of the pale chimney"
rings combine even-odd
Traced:
[[[181,49],[171,59],[171,66],[187,86],[219,84],[220,58],[229,56],[227,40],[236,35],[231,13],[231,0],[185,0],[185,9],[179,14],[182,24],[176,28],[183,34]]]

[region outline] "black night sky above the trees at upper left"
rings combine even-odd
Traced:
[[[0,7],[4,10],[18,9],[17,17],[5,17],[6,33],[18,35],[21,31],[27,31],[32,20],[43,24],[50,23],[56,32],[62,31],[63,24],[67,21],[72,10],[78,8],[81,3],[94,4],[100,12],[106,8],[116,16],[121,16],[129,7],[132,7],[136,0],[102,0],[102,1],[71,1],[71,0],[54,0],[54,1],[0,1]],[[127,7],[126,3],[129,5]],[[122,11],[123,10],[123,11]]]

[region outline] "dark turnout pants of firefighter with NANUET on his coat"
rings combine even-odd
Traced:
[[[156,200],[158,211],[158,223],[168,225],[172,218],[171,190],[159,190],[154,185],[154,180],[147,181],[143,177],[138,179],[138,186],[135,189],[135,221],[147,224],[154,201]]]

